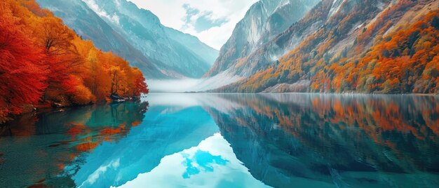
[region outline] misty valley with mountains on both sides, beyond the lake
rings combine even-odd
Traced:
[[[261,0],[219,51],[130,1],[37,1],[152,91],[439,92],[434,0]]]

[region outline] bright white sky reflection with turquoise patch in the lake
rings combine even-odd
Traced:
[[[170,170],[172,169],[172,170]],[[121,187],[266,187],[248,172],[224,138],[216,133],[198,146],[163,157],[149,173]]]

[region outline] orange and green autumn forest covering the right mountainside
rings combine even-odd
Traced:
[[[426,3],[397,1],[376,19],[365,19],[363,15],[379,11],[361,1],[358,8],[337,13],[326,27],[307,36],[278,65],[257,72],[239,86],[220,90],[261,92],[277,83],[309,80],[307,92],[439,93],[439,11],[432,10],[387,33],[405,13]],[[353,45],[330,53],[361,19],[369,24],[355,30],[358,37]]]

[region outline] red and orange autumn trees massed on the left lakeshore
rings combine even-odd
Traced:
[[[0,123],[26,105],[87,105],[112,93],[148,93],[140,70],[83,41],[34,0],[0,2]]]

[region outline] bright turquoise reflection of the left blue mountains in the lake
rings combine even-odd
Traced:
[[[117,143],[103,143],[72,176],[81,187],[120,186],[158,166],[164,156],[195,147],[218,127],[201,107],[152,105],[141,126]]]

